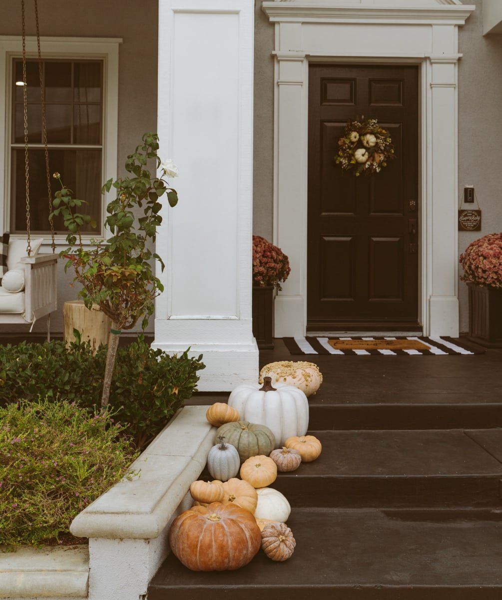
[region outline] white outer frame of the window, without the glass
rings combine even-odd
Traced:
[[[43,59],[95,59],[103,61],[102,90],[102,179],[117,178],[117,140],[118,140],[118,104],[119,104],[119,44],[122,38],[40,38]],[[11,140],[12,122],[12,77],[13,58],[22,57],[22,38],[0,36],[0,82],[4,82],[4,94],[0,94],[0,232],[8,230],[11,215]],[[37,39],[26,38],[26,58],[38,58]],[[3,166],[3,169],[2,169]],[[54,191],[54,188],[53,188]],[[101,202],[101,230],[83,234],[84,244],[92,238],[104,238],[104,221],[108,194]],[[23,238],[16,234],[13,238]],[[66,234],[55,236],[56,245],[66,247]],[[44,246],[50,247],[50,235],[44,234]]]

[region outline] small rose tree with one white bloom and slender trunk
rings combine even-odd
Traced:
[[[142,318],[143,329],[148,318],[155,310],[155,297],[164,289],[161,281],[155,277],[152,260],[164,263],[158,254],[152,253],[148,241],[155,242],[157,227],[162,222],[159,214],[162,208],[160,199],[167,194],[170,206],[176,206],[178,196],[170,187],[167,176],[177,176],[178,169],[171,160],[164,162],[159,158],[159,138],[156,133],[143,135],[143,143],[129,154],[125,169],[129,177],[109,179],[102,193],[115,188],[116,198],[107,206],[108,217],[105,226],[112,236],[105,240],[92,240],[92,248],[83,247],[80,228],[92,223],[89,215],[81,214],[83,200],[75,199],[71,190],[65,187],[59,173],[54,177],[61,184],[53,201],[52,215],[62,215],[65,227],[69,230],[66,241],[70,245],[61,254],[68,258],[66,268],[72,266],[75,281],[83,287],[79,292],[87,308],[93,304],[99,306],[111,319],[108,353],[101,404],[108,404],[111,376],[115,364],[119,336],[123,329],[131,329]],[[161,177],[152,176],[147,164],[155,163],[161,168]],[[143,216],[138,217],[143,211]],[[76,250],[72,248],[77,243]]]

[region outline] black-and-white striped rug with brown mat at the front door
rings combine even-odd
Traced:
[[[448,356],[483,354],[451,337],[298,337],[283,338],[291,354]]]

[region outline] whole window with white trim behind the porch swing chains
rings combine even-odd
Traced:
[[[52,196],[59,188],[52,173],[58,171],[66,187],[74,191],[74,196],[86,200],[84,212],[92,215],[98,224],[96,229],[84,230],[87,237],[103,234],[105,200],[101,186],[110,177],[116,178],[120,41],[41,39]],[[8,91],[7,97],[2,98],[3,111],[0,102],[0,113],[5,114],[5,169],[0,175],[4,209],[0,211],[3,221],[0,229],[10,230],[11,235],[25,235],[26,232],[23,108],[23,86],[26,85],[31,231],[45,237],[50,228],[49,200],[39,65],[34,52],[36,47],[30,47],[34,43],[34,40],[27,43],[26,82],[23,82],[20,42],[14,42],[13,38],[5,42],[0,38],[0,61],[4,49],[5,89]],[[62,218],[55,218],[54,227],[58,241],[62,242],[66,236]]]

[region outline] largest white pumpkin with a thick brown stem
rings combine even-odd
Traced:
[[[276,437],[276,448],[282,448],[288,437],[307,433],[309,401],[301,389],[285,383],[274,388],[270,377],[264,381],[262,388],[253,383],[238,385],[228,398],[228,406],[237,409],[244,421],[266,425]]]

